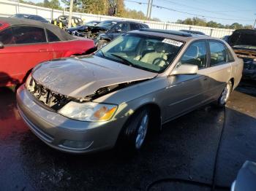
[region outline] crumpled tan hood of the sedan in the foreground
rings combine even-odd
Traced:
[[[156,73],[97,56],[48,61],[36,66],[32,72],[32,77],[39,84],[73,98],[94,94],[100,87],[156,76]]]

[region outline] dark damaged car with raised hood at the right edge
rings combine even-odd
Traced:
[[[256,80],[256,30],[238,29],[227,42],[236,55],[244,60],[243,79]]]

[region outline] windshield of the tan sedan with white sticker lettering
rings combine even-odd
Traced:
[[[173,62],[183,44],[163,37],[124,34],[95,55],[135,68],[161,73]]]

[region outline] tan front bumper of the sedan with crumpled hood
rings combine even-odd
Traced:
[[[40,106],[34,96],[22,85],[16,94],[18,110],[31,131],[54,149],[71,153],[94,152],[115,146],[125,119],[107,122],[71,120]],[[81,148],[67,147],[65,141],[77,141]]]

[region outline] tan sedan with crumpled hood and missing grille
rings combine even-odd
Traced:
[[[142,29],[94,55],[39,64],[18,89],[18,109],[55,149],[138,150],[165,122],[211,102],[225,106],[242,69],[222,39]]]

